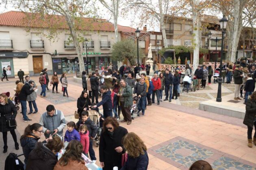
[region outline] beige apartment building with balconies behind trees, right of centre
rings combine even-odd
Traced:
[[[193,19],[185,17],[169,17],[166,18],[165,32],[167,36],[168,46],[192,46],[193,40]],[[221,38],[221,31],[219,30],[219,19],[215,16],[203,15],[202,16],[202,39],[201,47],[209,50],[207,55],[201,55],[206,62],[214,62],[215,54],[220,57],[221,42],[217,43],[217,52],[215,50],[216,42],[213,40],[216,37]],[[212,40],[209,40],[208,33],[212,33]],[[187,54],[187,60],[193,61],[193,54]],[[184,60],[184,59],[183,59]]]

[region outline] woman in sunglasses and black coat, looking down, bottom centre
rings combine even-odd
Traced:
[[[119,126],[115,118],[107,117],[104,120],[99,147],[103,170],[113,170],[115,166],[121,169],[122,154],[125,153],[121,140],[126,134],[127,129]]]

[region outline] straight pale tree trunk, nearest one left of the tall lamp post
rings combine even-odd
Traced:
[[[201,20],[200,13],[197,9],[200,0],[191,0],[191,7],[193,13],[193,36],[194,36],[194,51],[193,51],[193,72],[199,64],[200,46],[201,46]]]

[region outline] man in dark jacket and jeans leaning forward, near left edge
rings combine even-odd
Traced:
[[[31,119],[28,119],[28,117],[27,117],[27,97],[28,97],[28,95],[32,94],[35,91],[35,89],[37,89],[36,87],[34,87],[33,89],[30,90],[30,88],[33,86],[34,86],[34,81],[29,81],[22,87],[20,94],[19,94],[19,99],[20,99],[20,104],[22,106],[22,115],[23,115],[24,121],[31,121]]]

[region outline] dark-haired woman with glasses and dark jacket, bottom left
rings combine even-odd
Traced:
[[[43,127],[39,123],[34,123],[32,125],[28,125],[25,130],[24,134],[20,138],[20,144],[22,146],[22,150],[24,153],[24,170],[26,169],[26,164],[28,161],[29,153],[35,148],[37,141],[40,139],[40,136],[43,134]],[[50,138],[43,141],[43,143],[48,142]]]

